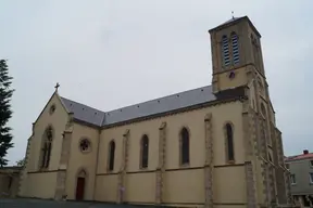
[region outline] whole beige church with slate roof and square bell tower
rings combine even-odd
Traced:
[[[175,207],[290,206],[261,50],[247,17],[209,30],[212,83],[103,112],[52,94],[18,195]]]

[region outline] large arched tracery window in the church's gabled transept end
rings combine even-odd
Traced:
[[[53,129],[48,127],[43,133],[42,138],[42,148],[41,148],[41,162],[40,168],[48,168],[50,164],[51,150],[53,140]]]

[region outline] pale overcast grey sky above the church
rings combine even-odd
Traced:
[[[301,2],[301,3],[300,3]],[[28,0],[0,2],[0,58],[14,77],[15,147],[62,96],[102,110],[211,83],[208,29],[248,15],[263,44],[285,153],[312,148],[312,0]]]

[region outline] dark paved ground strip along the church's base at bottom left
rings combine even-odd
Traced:
[[[53,202],[40,199],[0,199],[0,208],[136,208],[130,205]],[[139,206],[138,206],[139,207]],[[142,208],[140,206],[140,208]]]

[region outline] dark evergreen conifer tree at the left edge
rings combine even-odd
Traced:
[[[13,147],[11,128],[8,121],[12,117],[11,98],[14,92],[11,89],[13,78],[9,76],[9,68],[5,60],[0,60],[0,167],[8,165],[5,156],[8,150]]]

